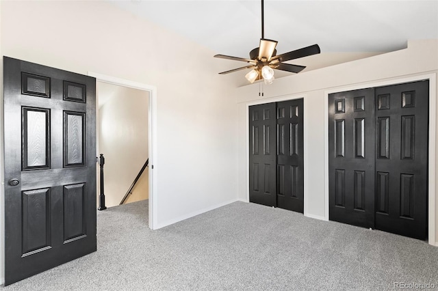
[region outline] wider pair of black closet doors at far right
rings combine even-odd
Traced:
[[[428,81],[329,94],[329,219],[427,238]]]

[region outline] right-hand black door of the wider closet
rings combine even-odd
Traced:
[[[376,229],[427,236],[428,81],[376,88]]]

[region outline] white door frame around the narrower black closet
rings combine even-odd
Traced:
[[[264,104],[264,103],[271,103],[271,102],[281,102],[281,101],[288,101],[288,100],[294,100],[294,99],[301,99],[302,98],[302,114],[303,119],[302,119],[302,139],[303,139],[303,146],[304,146],[304,157],[303,157],[303,162],[304,162],[304,216],[305,217],[313,217],[312,215],[308,214],[307,211],[307,206],[309,205],[307,202],[308,199],[308,195],[307,195],[307,185],[309,183],[309,181],[307,180],[307,177],[309,177],[309,175],[307,175],[307,165],[308,165],[308,156],[307,156],[307,94],[292,94],[292,95],[286,95],[286,96],[281,96],[281,97],[272,97],[272,98],[266,98],[263,100],[255,100],[252,102],[247,102],[245,104],[245,108],[246,108],[246,175],[245,175],[245,180],[246,180],[246,184],[245,184],[245,189],[246,189],[246,197],[244,202],[249,202],[249,155],[250,155],[250,151],[249,151],[249,107],[253,106],[253,105],[260,105],[260,104]]]

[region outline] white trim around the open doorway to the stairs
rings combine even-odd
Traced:
[[[88,76],[96,78],[96,81],[99,82],[110,83],[149,92],[149,228],[151,228],[151,230],[156,230],[159,228],[157,227],[157,87],[95,72],[88,72]]]

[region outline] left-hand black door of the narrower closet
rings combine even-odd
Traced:
[[[275,103],[249,107],[249,201],[276,206]]]

